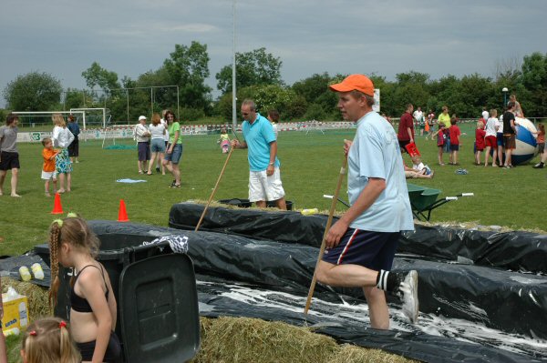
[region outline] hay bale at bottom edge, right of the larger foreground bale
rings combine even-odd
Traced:
[[[418,363],[418,360],[412,360],[397,356],[396,354],[386,353],[380,349],[362,348],[352,346],[350,344],[340,346],[340,350],[334,356],[329,358],[328,361],[331,363]]]

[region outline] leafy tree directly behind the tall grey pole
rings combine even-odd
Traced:
[[[266,48],[254,49],[251,52],[235,54],[236,87],[260,85],[283,85],[281,79],[282,61]],[[232,65],[223,66],[215,76],[217,89],[226,94],[232,91]]]

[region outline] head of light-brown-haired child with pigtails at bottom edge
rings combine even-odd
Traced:
[[[21,343],[24,363],[79,363],[80,354],[70,336],[67,322],[42,318],[26,328]]]

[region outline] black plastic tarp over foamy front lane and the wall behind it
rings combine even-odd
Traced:
[[[116,237],[129,246],[169,234],[189,237],[189,256],[199,280],[201,315],[304,323],[302,310],[315,268],[316,247],[133,223],[91,221],[89,224],[99,239]],[[547,358],[537,348],[542,347],[541,341],[539,345],[513,343],[534,341],[522,335],[535,339],[547,337],[547,277],[415,257],[397,257],[395,267],[418,269],[421,316],[417,326],[409,325],[402,318],[397,300],[390,299],[394,329],[382,332],[366,328],[366,309],[355,308],[359,304],[366,306],[359,289],[334,290],[321,284],[316,288],[307,323],[317,324],[322,327],[319,332],[341,342],[382,348],[430,362],[516,362]],[[442,328],[443,324],[448,328]],[[476,330],[474,337],[471,327]],[[489,327],[507,333],[492,329],[483,334],[488,337],[481,337],[482,330]],[[492,335],[495,337],[490,338]]]

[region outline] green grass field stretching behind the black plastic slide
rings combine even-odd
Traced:
[[[465,131],[465,129],[464,129]],[[469,135],[470,132],[468,131]],[[287,200],[294,207],[317,207],[327,210],[340,166],[344,138],[352,138],[354,130],[282,132],[279,136],[279,157]],[[240,136],[241,137],[241,136]],[[140,176],[137,151],[102,149],[99,142],[80,142],[80,163],[74,167],[72,192],[62,195],[65,212],[74,211],[88,219],[116,220],[119,200],[127,205],[133,222],[167,226],[170,207],[187,200],[207,200],[221,172],[226,155],[216,144],[217,136],[184,136],[181,159],[182,187],[170,189],[171,177],[154,174]],[[545,229],[544,206],[547,185],[544,170],[531,165],[500,169],[473,165],[472,136],[463,136],[461,166],[437,166],[437,146],[418,137],[423,161],[435,170],[432,180],[412,183],[436,187],[441,197],[472,192],[475,197],[450,202],[432,213],[431,222],[475,222],[515,229]],[[125,140],[126,145],[133,143]],[[53,197],[44,196],[40,179],[41,144],[19,144],[22,168],[18,193],[9,197],[9,178],[5,180],[4,197],[0,197],[0,255],[21,254],[36,244],[44,243],[47,228],[56,216],[51,215]],[[234,150],[215,199],[247,197],[248,165],[246,150]],[[408,156],[405,156],[407,162]],[[537,160],[534,159],[534,161]],[[445,162],[448,161],[448,155]],[[454,173],[464,167],[467,176]],[[146,183],[121,184],[119,178],[146,179]],[[346,197],[345,189],[341,192]],[[344,207],[339,204],[340,209]]]

